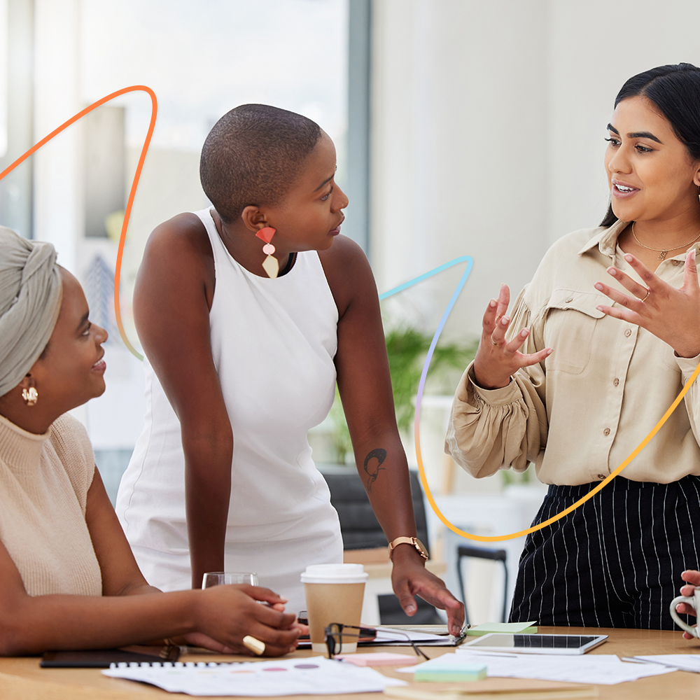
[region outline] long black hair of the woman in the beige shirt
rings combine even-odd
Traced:
[[[628,97],[650,99],[668,119],[692,160],[700,160],[700,68],[690,63],[659,66],[629,78],[615,97],[615,106]],[[601,226],[617,221],[608,205]]]

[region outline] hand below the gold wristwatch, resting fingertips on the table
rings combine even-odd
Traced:
[[[447,612],[447,629],[452,636],[459,636],[464,624],[464,605],[445,588],[442,580],[426,570],[420,554],[407,545],[394,550],[391,584],[406,615],[416,614],[418,608],[413,596],[420,596],[426,603]]]

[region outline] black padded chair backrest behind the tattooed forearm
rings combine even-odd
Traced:
[[[386,547],[386,538],[381,531],[379,521],[372,512],[370,500],[358,472],[353,467],[335,467],[319,465],[328,488],[330,502],[338,512],[340,530],[343,534],[345,549],[370,549]],[[418,472],[409,472],[413,512],[416,518],[418,538],[428,547],[428,527],[426,510],[423,505],[423,489]]]

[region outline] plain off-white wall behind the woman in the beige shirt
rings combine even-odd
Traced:
[[[652,66],[700,63],[700,3],[375,0],[373,11],[379,290],[472,255],[444,332],[478,335],[501,282],[517,294],[552,241],[601,221],[615,94]],[[414,290],[433,328],[457,279]]]

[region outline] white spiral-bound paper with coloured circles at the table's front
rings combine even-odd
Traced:
[[[113,664],[114,666],[114,664]],[[151,683],[169,692],[216,695],[335,695],[381,692],[388,685],[407,685],[374,668],[360,668],[323,657],[237,664],[121,664],[102,671],[112,678]]]

